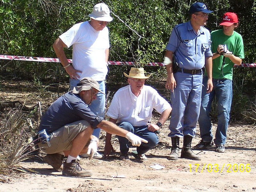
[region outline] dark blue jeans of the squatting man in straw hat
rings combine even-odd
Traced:
[[[144,154],[146,153],[148,150],[152,149],[153,147],[155,147],[157,145],[157,143],[159,142],[158,136],[156,135],[156,133],[151,132],[148,130],[148,126],[144,125],[144,126],[140,126],[140,127],[133,127],[132,124],[128,123],[128,122],[120,122],[117,124],[117,126],[134,133],[135,135],[145,139],[148,141],[148,143],[143,143],[141,142],[140,147],[137,147],[137,152],[138,154]],[[121,154],[127,154],[129,151],[129,147],[128,147],[128,140],[125,137],[121,137],[121,136],[117,136],[119,143],[120,143],[120,152]]]

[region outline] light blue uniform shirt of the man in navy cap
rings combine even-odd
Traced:
[[[181,23],[172,29],[166,50],[174,53],[180,68],[201,69],[205,58],[212,56],[210,32],[201,26],[196,34],[190,21]]]

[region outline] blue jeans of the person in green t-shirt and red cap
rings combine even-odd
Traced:
[[[232,80],[230,79],[213,79],[212,92],[206,93],[207,76],[203,79],[202,102],[199,116],[200,137],[205,142],[211,142],[212,123],[210,111],[214,96],[217,99],[218,125],[214,139],[215,145],[225,145],[227,139],[228,121],[232,102]]]

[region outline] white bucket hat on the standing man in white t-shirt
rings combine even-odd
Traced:
[[[88,16],[98,21],[110,22],[113,20],[113,18],[110,17],[110,11],[108,9],[108,6],[104,3],[94,5],[92,13]]]

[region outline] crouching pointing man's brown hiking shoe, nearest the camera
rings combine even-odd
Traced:
[[[72,160],[70,163],[63,163],[62,175],[71,175],[76,177],[89,177],[92,176],[90,170],[82,168],[77,159]]]

